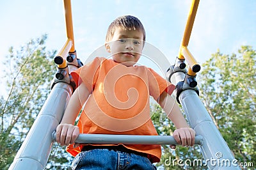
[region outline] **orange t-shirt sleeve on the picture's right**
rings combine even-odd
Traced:
[[[166,81],[163,77],[161,77],[158,73],[156,73],[152,68],[148,68],[148,86],[149,86],[149,94],[155,100],[157,100],[163,91],[166,91],[169,95],[172,95],[175,86]]]

